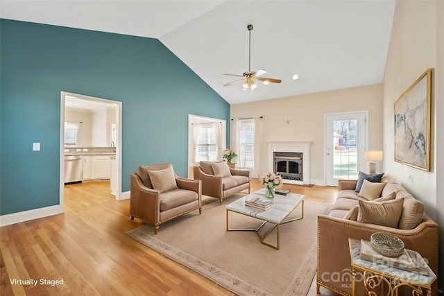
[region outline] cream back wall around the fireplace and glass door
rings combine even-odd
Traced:
[[[361,110],[368,110],[368,148],[382,150],[381,84],[231,105],[231,117],[263,116],[261,175],[267,170],[267,141],[313,141],[310,180],[324,184],[324,114]],[[287,119],[291,125],[285,123]]]

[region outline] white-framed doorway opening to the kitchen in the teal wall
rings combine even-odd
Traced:
[[[69,109],[67,109],[67,107]],[[101,122],[106,127],[105,131],[101,131],[91,127],[83,122],[82,119],[76,119],[67,121],[67,114],[71,111],[76,110],[77,115],[83,114],[85,112],[94,112],[94,110],[99,110],[100,108],[108,107],[108,110],[104,111],[104,115],[97,116],[99,119],[94,119],[95,121]],[[82,113],[83,112],[83,113]],[[112,120],[107,120],[106,114],[111,114],[109,116]],[[72,113],[72,112],[71,112]],[[71,116],[71,114],[69,114]],[[72,118],[73,116],[71,116]],[[75,117],[75,116],[74,116]],[[85,154],[83,164],[86,168],[91,166],[89,162],[91,160],[91,155],[94,151],[101,151],[105,148],[108,150],[113,150],[115,152],[114,159],[107,156],[106,162],[101,162],[101,159],[97,159],[98,163],[98,173],[103,172],[101,169],[110,169],[110,182],[111,182],[111,192],[115,195],[117,200],[121,200],[121,155],[122,155],[122,103],[120,101],[112,101],[105,98],[96,98],[92,96],[85,96],[82,94],[73,94],[69,92],[60,92],[60,207],[64,208],[65,204],[65,154],[66,155],[82,155]],[[65,128],[74,128],[74,132],[70,131],[65,133]],[[82,130],[83,129],[83,130]],[[94,137],[94,134],[96,136]],[[94,139],[93,139],[94,138]],[[89,146],[89,147],[85,147]],[[103,146],[97,148],[97,146]],[[102,158],[104,155],[102,156]],[[81,178],[87,178],[89,170],[81,174]]]

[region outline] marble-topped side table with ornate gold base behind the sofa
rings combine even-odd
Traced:
[[[393,266],[361,259],[359,256],[361,241],[357,239],[348,238],[348,245],[352,261],[352,296],[357,296],[357,281],[360,280],[364,281],[368,295],[377,295],[374,290],[379,289],[380,284],[383,285],[381,289],[385,286],[388,288],[387,293],[382,290],[382,295],[396,296],[401,286],[411,288],[411,295],[422,295],[422,288],[427,290],[427,296],[432,295],[432,284],[436,280],[436,275],[428,265],[428,275],[400,270]],[[363,272],[362,279],[357,279],[357,270]]]

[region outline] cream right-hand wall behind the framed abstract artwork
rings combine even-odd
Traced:
[[[397,1],[384,74],[384,170],[413,196],[439,225],[444,245],[444,4],[443,1]],[[427,69],[432,74],[431,169],[421,171],[394,161],[393,103]],[[443,289],[444,252],[438,285]]]

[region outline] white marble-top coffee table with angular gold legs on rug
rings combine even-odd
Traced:
[[[259,241],[264,245],[268,245],[268,247],[273,247],[276,250],[279,250],[279,225],[284,223],[289,223],[291,221],[300,220],[304,218],[304,195],[290,193],[289,195],[275,195],[275,198],[271,200],[273,202],[273,207],[263,211],[261,209],[257,209],[255,207],[248,207],[245,204],[245,200],[251,200],[252,198],[258,197],[261,200],[268,200],[265,197],[265,189],[253,192],[244,196],[239,200],[236,200],[230,204],[227,204],[225,207],[227,211],[227,231],[255,231],[257,236],[259,236]],[[299,206],[301,206],[302,215],[297,218],[287,219],[287,217]],[[242,214],[246,216],[250,216],[253,218],[257,218],[259,220],[264,220],[264,223],[257,227],[256,229],[250,228],[230,228],[229,224],[229,213],[234,212],[237,214]],[[259,230],[264,227],[267,223],[272,224],[272,227],[268,229],[265,234],[259,234]],[[271,243],[266,243],[264,239],[268,234],[270,234],[273,229],[276,228],[276,244],[272,245]]]

